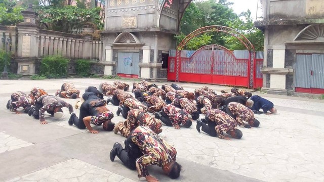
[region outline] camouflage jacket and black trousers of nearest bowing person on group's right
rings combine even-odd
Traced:
[[[211,136],[217,136],[220,139],[224,138],[223,131],[229,133],[237,129],[236,121],[225,112],[218,109],[211,109],[207,111],[206,123],[201,123],[201,130]]]

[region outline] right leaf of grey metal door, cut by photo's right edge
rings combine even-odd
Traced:
[[[324,88],[324,55],[313,54],[311,64],[311,85],[312,88]]]

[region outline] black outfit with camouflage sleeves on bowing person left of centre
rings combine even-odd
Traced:
[[[83,118],[91,116],[91,123],[94,125],[101,125],[104,121],[113,118],[113,113],[106,108],[105,100],[101,100],[93,93],[85,93],[82,98],[85,102],[80,107],[79,117],[72,116],[73,124],[79,129],[85,129],[86,125]]]

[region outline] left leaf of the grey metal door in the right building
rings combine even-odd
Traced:
[[[296,55],[295,87],[310,88],[312,55]]]

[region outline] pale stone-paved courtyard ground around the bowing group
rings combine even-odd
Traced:
[[[17,90],[29,93],[38,86],[54,94],[64,82],[72,82],[83,94],[87,86],[98,87],[103,81],[114,80],[0,80],[0,181],[138,181],[136,171],[127,169],[118,158],[114,162],[109,159],[112,145],[126,139],[120,134],[104,131],[101,126],[94,126],[98,134],[69,126],[67,108],[63,108],[61,119],[46,115],[47,125],[6,108]],[[179,84],[190,92],[203,85]],[[222,89],[230,90],[208,86],[218,94]],[[174,181],[324,181],[324,100],[253,94],[272,101],[278,114],[256,115],[260,127],[239,127],[241,140],[198,133],[195,122],[191,128],[180,130],[163,126],[165,140],[177,148],[177,160],[183,168]],[[76,102],[64,100],[73,106]],[[117,110],[111,104],[107,107],[114,113]],[[79,110],[74,112],[78,116]],[[123,120],[121,115],[112,119],[115,123]],[[171,181],[159,167],[149,171],[160,181]]]

